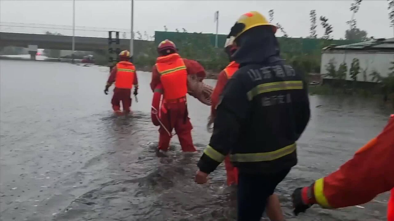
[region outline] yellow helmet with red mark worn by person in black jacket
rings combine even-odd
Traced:
[[[237,25],[237,23],[243,24],[242,26],[243,28],[240,29],[240,31],[238,30],[237,33],[233,33],[233,36],[235,38],[239,37],[246,30],[249,30],[256,26],[269,25],[272,27],[274,33],[276,33],[276,29],[277,29],[275,25],[270,24],[268,22],[267,18],[264,17],[264,15],[258,13],[257,11],[250,11],[248,13],[241,15],[241,17],[238,18],[235,25]]]

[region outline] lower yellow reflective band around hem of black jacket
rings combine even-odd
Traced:
[[[290,144],[286,147],[278,149],[276,151],[266,152],[266,153],[236,153],[230,155],[230,160],[232,162],[261,162],[261,161],[271,161],[277,158],[284,157],[296,150],[296,144]]]

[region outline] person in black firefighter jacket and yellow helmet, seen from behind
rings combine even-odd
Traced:
[[[227,43],[240,64],[227,82],[214,131],[197,166],[195,181],[207,176],[230,154],[238,168],[238,221],[259,221],[275,187],[297,164],[296,141],[310,118],[307,85],[279,57],[276,27],[256,11],[242,15]],[[227,44],[226,44],[227,45]]]

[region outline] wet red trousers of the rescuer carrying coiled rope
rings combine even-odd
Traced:
[[[193,126],[191,125],[188,117],[186,100],[176,103],[164,103],[163,105],[164,108],[162,108],[160,120],[162,121],[165,129],[163,126],[160,126],[159,128],[159,149],[163,151],[168,150],[172,137],[171,133],[173,129],[175,129],[182,151],[196,151],[193,146],[193,140],[191,139],[191,129],[193,129]],[[163,109],[165,110],[163,111]]]

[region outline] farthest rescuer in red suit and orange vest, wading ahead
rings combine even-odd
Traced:
[[[115,82],[112,97],[112,109],[117,116],[130,113],[131,107],[131,89],[134,85],[134,95],[138,94],[138,79],[136,67],[130,60],[130,52],[128,50],[119,53],[120,62],[112,68],[110,77],[108,77],[107,85],[104,93],[108,94],[108,88]],[[120,109],[122,101],[123,112]]]

